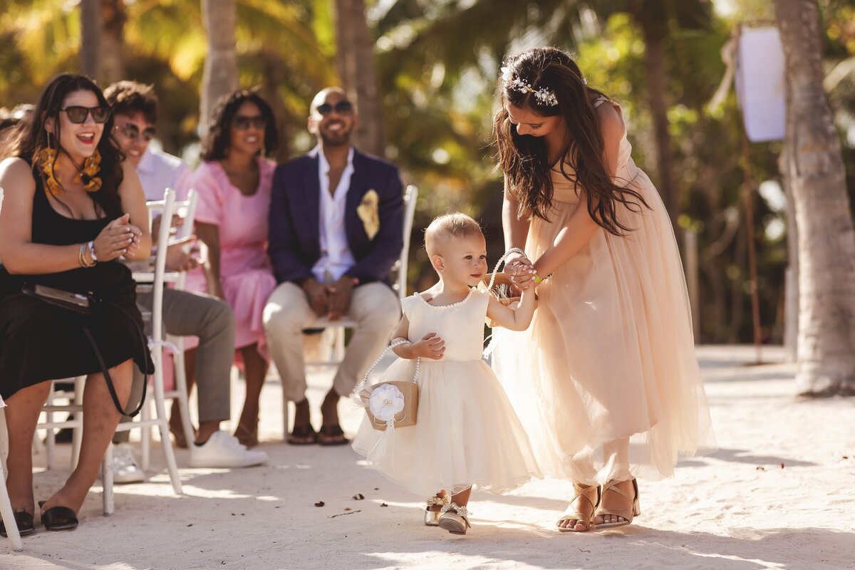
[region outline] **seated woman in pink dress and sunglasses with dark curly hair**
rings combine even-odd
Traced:
[[[235,437],[258,444],[258,400],[268,371],[262,309],[276,287],[267,256],[268,209],[275,162],[273,111],[261,97],[235,91],[221,98],[202,141],[193,176],[199,193],[196,233],[208,247],[203,271],[187,288],[225,299],[234,310],[236,360],[243,361],[246,399]]]

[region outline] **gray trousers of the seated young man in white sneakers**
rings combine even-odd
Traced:
[[[150,311],[152,296],[138,295],[140,310]],[[199,421],[224,421],[230,417],[232,361],[234,358],[234,314],[225,301],[202,293],[163,290],[163,326],[176,337],[199,338],[196,350],[196,386]],[[147,331],[148,332],[148,331]],[[133,367],[133,388],[128,406],[139,403],[143,375]],[[127,416],[122,421],[128,420]],[[128,432],[118,432],[116,443],[127,441]]]

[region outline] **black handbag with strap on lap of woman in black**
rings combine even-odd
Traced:
[[[25,295],[29,295],[30,297],[36,297],[44,303],[48,303],[49,305],[53,305],[54,307],[71,311],[79,315],[80,317],[90,315],[97,304],[106,303],[103,301],[97,301],[95,297],[88,294],[74,293],[73,291],[63,291],[62,289],[55,289],[54,287],[48,287],[46,285],[24,284],[24,286],[21,288],[21,292]],[[145,349],[148,348],[148,343],[145,340],[145,333],[139,328],[137,322],[133,320],[133,317],[130,314],[127,314],[127,311],[123,307],[120,307],[115,303],[107,304],[110,305],[111,309],[116,309],[121,314],[127,316],[128,320],[133,323],[133,328],[136,329],[137,332],[139,332],[139,336],[142,339],[144,347],[143,352],[145,352]],[[139,398],[139,405],[134,408],[133,411],[126,411],[124,408],[122,408],[121,402],[119,402],[119,397],[115,393],[113,379],[110,378],[109,370],[107,368],[107,365],[103,361],[103,356],[101,356],[101,350],[98,349],[98,345],[95,342],[95,338],[92,338],[92,333],[89,332],[89,328],[85,326],[84,322],[80,322],[80,325],[83,328],[83,333],[89,340],[89,344],[92,347],[92,350],[95,352],[95,357],[97,358],[98,366],[101,367],[101,373],[103,373],[104,380],[107,382],[109,395],[113,399],[113,405],[117,410],[119,410],[120,414],[127,415],[131,418],[135,417],[137,414],[139,414],[140,410],[142,410],[143,405],[145,403],[145,391],[149,385],[149,375],[147,373],[144,373],[143,395]]]

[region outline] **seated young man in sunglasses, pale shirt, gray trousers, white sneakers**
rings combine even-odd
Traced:
[[[115,139],[139,173],[149,200],[162,200],[167,188],[186,198],[192,172],[178,157],[155,150],[149,143],[155,135],[157,97],[150,85],[120,81],[105,91],[115,117]],[[195,241],[191,237],[190,241]],[[198,262],[186,253],[186,241],[168,245],[167,270],[187,271]],[[143,295],[138,303],[151,310],[152,297]],[[163,325],[169,334],[199,338],[198,349],[187,351],[187,390],[192,388],[192,373],[198,375],[199,426],[195,444],[190,445],[191,467],[245,467],[267,460],[262,451],[247,450],[227,432],[220,422],[229,419],[234,316],[226,303],[189,291],[163,291]],[[198,363],[198,367],[196,366]],[[142,389],[142,377],[134,388]],[[170,417],[170,431],[179,447],[188,447],[181,427],[177,400]],[[127,432],[116,434],[127,441]],[[121,451],[119,451],[121,450]],[[121,461],[120,461],[121,460]],[[115,481],[134,482],[143,479],[142,469],[133,461],[127,446],[117,448],[113,460]],[[119,466],[118,468],[115,466]]]

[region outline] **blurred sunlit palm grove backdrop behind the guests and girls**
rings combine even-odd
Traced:
[[[851,0],[818,3],[823,87],[852,203],[855,9]],[[741,26],[763,25],[775,26],[770,0],[3,0],[0,105],[34,103],[60,72],[88,73],[102,86],[151,83],[161,102],[159,143],[195,166],[207,113],[200,109],[210,106],[203,99],[226,91],[216,85],[224,69],[216,57],[233,58],[232,80],[256,87],[273,106],[283,143],[276,158],[285,161],[314,146],[305,125],[315,92],[358,83],[357,145],[395,162],[404,184],[420,189],[410,286],[421,289],[433,279],[419,247],[422,228],[446,209],[481,220],[491,265],[501,254],[502,184],[491,144],[498,68],[506,54],[555,45],[575,52],[588,85],[624,109],[634,160],[657,184],[683,255],[688,247],[694,260],[697,341],[752,341],[751,224],[760,333],[780,344],[782,143],[743,145],[727,85],[711,104],[728,74],[722,48],[727,53]]]

